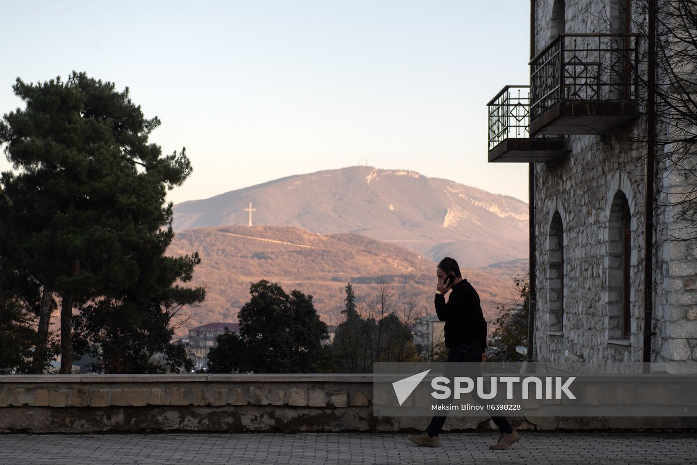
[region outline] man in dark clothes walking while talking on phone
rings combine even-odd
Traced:
[[[436,314],[445,321],[445,347],[449,349],[447,362],[484,362],[487,359],[487,322],[482,314],[480,297],[466,279],[454,258],[446,257],[436,268]],[[445,293],[451,290],[445,302]],[[452,366],[452,365],[451,365]],[[479,371],[479,365],[476,365]],[[447,366],[446,366],[447,371]],[[481,375],[479,375],[481,376]],[[443,411],[447,413],[447,410]],[[438,447],[438,434],[443,429],[445,416],[434,415],[424,433],[409,434],[407,438],[427,447]],[[505,417],[491,417],[498,427],[498,441],[490,449],[502,450],[519,440],[520,436]]]

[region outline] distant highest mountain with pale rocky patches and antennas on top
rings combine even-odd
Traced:
[[[418,172],[353,166],[276,179],[174,206],[174,229],[254,224],[360,234],[466,267],[526,258],[528,205]]]

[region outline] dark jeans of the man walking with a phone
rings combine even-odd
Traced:
[[[454,392],[454,386],[453,386],[453,381],[452,378],[454,376],[469,376],[470,378],[473,378],[473,381],[477,381],[477,376],[482,376],[482,370],[480,369],[479,363],[482,362],[482,348],[479,344],[478,341],[474,341],[471,343],[467,344],[461,344],[457,347],[453,347],[450,349],[450,351],[447,354],[447,361],[448,362],[470,362],[470,363],[477,363],[473,364],[471,367],[468,367],[468,373],[455,373],[454,372],[454,366],[452,364],[447,364],[445,366],[445,373],[443,376],[446,378],[450,379],[450,383],[448,384],[451,388],[451,396],[449,399],[445,399],[445,403],[450,403],[452,401],[452,392]],[[452,369],[451,369],[452,367]],[[473,391],[472,398],[479,403],[480,405],[486,405],[487,403],[493,403],[493,399],[491,401],[487,401],[484,399],[480,399],[476,395],[476,388]],[[429,436],[436,436],[443,430],[443,424],[445,424],[445,418],[447,418],[447,410],[443,410],[438,413],[438,415],[434,415],[434,418],[431,419],[431,424],[429,427],[426,429],[426,432],[429,434]],[[508,420],[505,417],[491,417],[491,420],[493,420],[494,424],[498,427],[498,431],[501,433],[510,433],[512,431],[511,424],[508,422]]]

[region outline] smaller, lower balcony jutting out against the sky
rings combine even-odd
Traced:
[[[545,163],[569,152],[564,138],[530,138],[530,86],[506,86],[487,107],[489,162]]]

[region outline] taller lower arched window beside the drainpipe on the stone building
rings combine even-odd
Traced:
[[[617,191],[608,224],[608,339],[631,336],[631,214]]]

